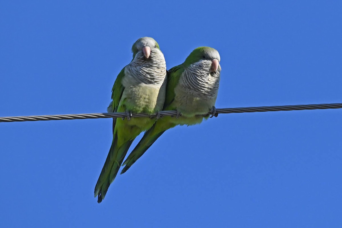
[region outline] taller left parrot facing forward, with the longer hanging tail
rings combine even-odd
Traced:
[[[151,37],[140,38],[133,44],[132,52],[133,60],[115,80],[113,101],[107,109],[126,112],[127,118],[113,118],[113,141],[94,191],[98,203],[104,199],[135,137],[156,121],[149,117],[131,117],[132,112],[156,114],[165,102],[167,71],[158,43]]]

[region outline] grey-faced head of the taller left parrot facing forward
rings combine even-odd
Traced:
[[[146,59],[148,59],[152,53],[160,52],[159,45],[152,37],[142,37],[135,41],[132,46],[133,59],[136,54],[141,52]]]

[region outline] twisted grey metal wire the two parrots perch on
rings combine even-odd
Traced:
[[[316,104],[316,105],[283,105],[283,106],[261,106],[245,108],[218,108],[216,113],[242,113],[242,112],[268,112],[268,111],[291,111],[291,110],[312,110],[312,109],[331,109],[342,108],[342,103]],[[160,116],[175,116],[176,111],[160,111]],[[98,118],[123,118],[126,112],[105,112],[105,113],[86,113],[68,115],[44,115],[44,116],[14,116],[0,117],[0,122],[23,122],[39,120],[76,120],[76,119],[98,119]],[[144,113],[133,113],[132,117],[156,117],[157,115],[147,115]]]

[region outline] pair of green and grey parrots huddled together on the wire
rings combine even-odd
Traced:
[[[167,129],[176,125],[194,125],[215,115],[220,82],[220,55],[209,47],[196,48],[181,65],[166,70],[158,43],[150,37],[138,39],[132,46],[133,60],[115,80],[108,112],[126,112],[127,118],[113,118],[113,142],[95,186],[100,203],[115,179],[133,140],[146,131],[123,162],[121,174],[139,159]],[[133,113],[156,114],[176,110],[169,116],[131,118]]]

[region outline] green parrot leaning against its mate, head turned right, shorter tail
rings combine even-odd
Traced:
[[[168,71],[163,110],[177,110],[176,118],[155,122],[130,153],[121,174],[126,172],[166,130],[176,125],[194,125],[217,116],[215,101],[220,82],[220,54],[210,47],[196,48],[185,62]],[[210,114],[208,114],[210,113]],[[211,116],[211,117],[212,117]]]

